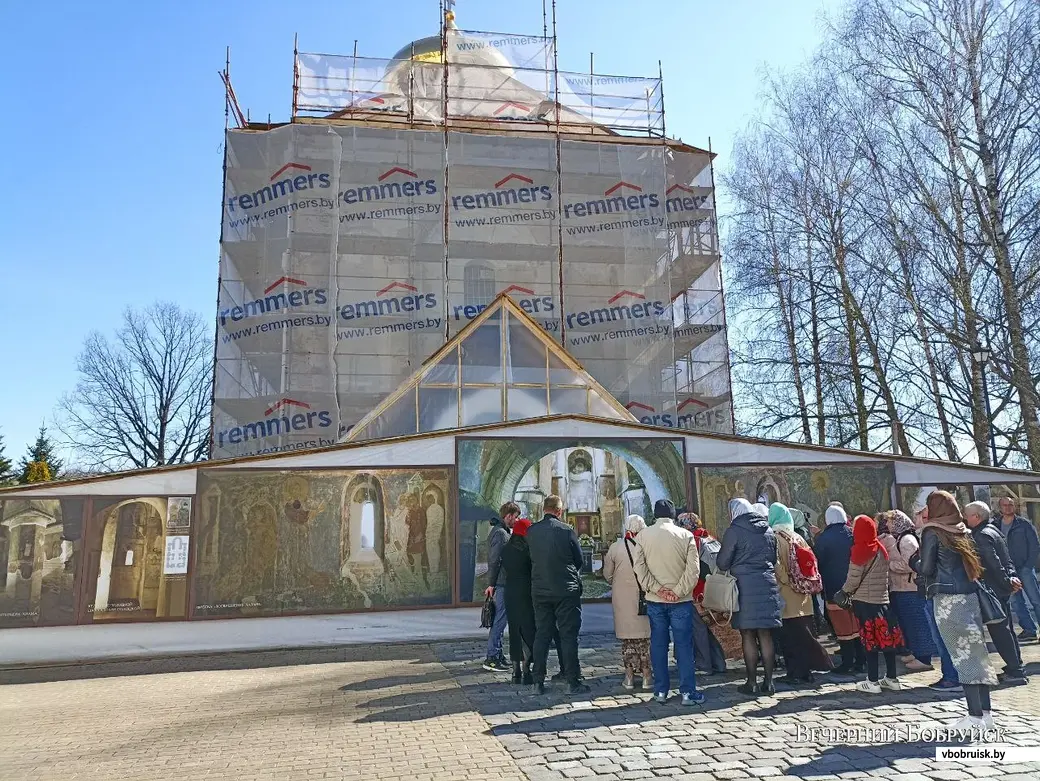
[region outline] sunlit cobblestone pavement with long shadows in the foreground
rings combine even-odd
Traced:
[[[963,700],[925,688],[936,673],[879,697],[828,682],[755,700],[734,673],[702,678],[708,702],[682,708],[623,693],[613,637],[582,643],[582,701],[484,672],[479,643],[0,671],[0,779],[1040,778],[1040,763],[940,764],[933,743],[905,733],[804,734],[954,721]],[[1036,746],[1040,646],[1023,650],[1036,681],[996,691],[994,713],[999,743]]]

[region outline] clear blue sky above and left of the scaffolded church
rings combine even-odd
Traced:
[[[0,3],[0,435],[21,458],[76,384],[90,331],[156,300],[213,317],[223,86],[286,120],[303,51],[391,56],[438,30],[436,0]],[[557,0],[560,67],[652,76],[670,135],[720,153],[760,70],[800,63],[837,0]],[[540,33],[540,0],[459,0],[460,27]]]

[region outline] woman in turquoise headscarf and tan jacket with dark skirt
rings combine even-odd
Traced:
[[[812,632],[812,595],[795,590],[790,572],[791,559],[796,557],[792,548],[808,551],[809,545],[795,531],[795,519],[780,502],[770,505],[769,521],[777,538],[776,575],[783,600],[781,636],[787,674],[780,681],[791,685],[811,683],[812,671],[830,670],[831,660]]]

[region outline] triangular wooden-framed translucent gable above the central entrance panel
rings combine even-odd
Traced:
[[[361,442],[488,423],[635,418],[505,293],[345,437]]]

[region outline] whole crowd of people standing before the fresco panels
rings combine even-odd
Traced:
[[[509,623],[516,682],[544,691],[555,642],[561,677],[571,691],[587,692],[577,656],[581,549],[560,521],[562,510],[550,496],[545,519],[530,524],[516,504],[503,505],[490,539],[488,596],[500,600],[502,628]],[[962,509],[945,491],[932,492],[913,519],[901,511],[851,518],[832,502],[818,533],[804,514],[779,502],[735,498],[729,511],[720,545],[694,514],[677,517],[673,503],[660,500],[649,525],[628,516],[624,535],[604,554],[626,689],[642,678],[656,700],[668,701],[674,646],[681,702],[704,701],[698,668],[725,670],[722,647],[698,606],[707,578],[718,573],[736,584],[729,626],[740,634],[747,680],[738,691],[746,695],[775,692],[778,646],[786,668],[781,682],[865,673],[856,687],[872,695],[902,688],[898,662],[916,672],[932,669],[938,656],[942,677],[932,687],[965,695],[968,713],[959,729],[991,727],[990,687],[1025,682],[1019,644],[1036,640],[1040,619],[1040,539],[1014,499],[1000,499],[994,518],[984,502]],[[1013,605],[1022,626],[1017,636]],[[820,643],[822,623],[838,643],[837,667]],[[990,661],[987,630],[1004,661],[1000,674]],[[493,629],[485,665],[508,669],[501,630],[497,637],[496,646]]]

